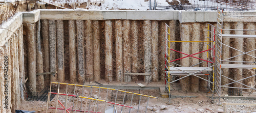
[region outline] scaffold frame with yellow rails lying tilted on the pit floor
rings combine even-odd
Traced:
[[[57,92],[52,91],[53,86],[58,87]],[[72,88],[70,88],[69,86],[71,86]],[[66,91],[60,90],[60,88],[65,89],[65,87],[66,87]],[[93,88],[94,88],[94,90],[93,90]],[[86,90],[86,89],[88,89],[88,90]],[[68,92],[68,91],[71,91],[72,94],[69,94],[70,92]],[[90,91],[90,92],[88,92],[88,91]],[[110,97],[111,91],[115,92],[115,98],[113,99],[113,100],[115,100],[114,102],[108,101],[108,100],[111,100],[109,98],[112,98],[112,97]],[[79,94],[78,92],[79,93],[82,92],[82,93]],[[92,97],[93,92],[97,92],[97,95],[96,96],[94,95]],[[106,94],[104,94],[104,95],[106,95],[106,97],[105,97],[106,100],[101,100],[101,99],[97,98],[97,97],[100,97],[100,92],[106,93]],[[117,103],[118,94],[123,95],[122,104]],[[132,97],[129,97],[131,99],[130,106],[124,105],[125,97],[127,96],[127,94],[132,95]],[[53,99],[54,102],[51,102],[51,100],[50,100],[51,95],[56,95],[55,97],[57,97],[57,98]],[[60,96],[64,96],[64,97],[61,98]],[[132,92],[128,92],[128,91],[122,91],[122,90],[111,89],[111,88],[86,86],[86,85],[70,84],[70,83],[51,82],[50,92],[48,93],[46,112],[48,112],[49,109],[55,109],[55,113],[59,112],[59,110],[64,110],[64,112],[69,112],[69,111],[98,112],[100,109],[101,110],[103,109],[102,106],[99,107],[100,102],[101,102],[101,104],[103,104],[102,102],[105,103],[104,109],[103,109],[104,112],[109,112],[110,109],[113,109],[113,113],[114,113],[114,112],[116,112],[116,109],[118,108],[117,106],[121,106],[121,108],[119,110],[120,112],[123,112],[125,110],[124,107],[129,108],[129,110],[126,109],[125,111],[131,112],[132,108],[135,109],[135,107],[133,107],[133,101],[138,96],[139,96],[139,102],[138,102],[137,112],[141,112],[140,104],[141,104],[142,100],[147,100],[146,108],[145,108],[145,112],[146,112],[147,106],[148,106],[148,101],[150,100],[150,98],[157,98],[157,97],[153,97],[153,96],[142,95],[142,94],[138,94],[138,93],[132,93]],[[65,100],[63,100],[63,99],[65,99]],[[83,99],[86,99],[86,100],[83,100]],[[62,104],[61,101],[64,102],[64,104]],[[89,105],[88,105],[88,103],[89,103]],[[108,107],[107,104],[111,104],[113,106],[113,108],[112,108],[112,106]],[[62,107],[62,108],[59,108],[59,107]]]

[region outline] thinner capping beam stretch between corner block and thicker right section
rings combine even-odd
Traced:
[[[80,20],[174,20],[179,11],[88,11],[88,10],[40,10],[41,19]]]

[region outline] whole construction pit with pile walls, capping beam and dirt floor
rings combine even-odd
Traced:
[[[104,112],[112,105],[117,112],[256,112],[255,15],[219,10],[17,13],[0,30],[0,112]],[[224,34],[245,36],[218,40]],[[236,62],[216,61],[229,58]],[[179,70],[191,66],[211,70]],[[177,70],[182,73],[172,73]]]

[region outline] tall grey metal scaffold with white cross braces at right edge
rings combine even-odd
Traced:
[[[233,68],[233,69],[256,69],[256,65],[248,65],[246,63],[255,63],[255,59],[253,61],[231,61],[233,58],[236,58],[238,56],[243,56],[245,54],[251,56],[252,58],[256,58],[256,56],[253,56],[251,54],[248,54],[249,52],[253,52],[256,49],[252,48],[253,50],[249,50],[247,52],[244,52],[242,50],[239,50],[225,42],[223,42],[223,38],[256,38],[256,35],[238,35],[238,34],[223,34],[223,31],[256,31],[256,30],[238,30],[238,29],[223,29],[223,20],[228,21],[228,17],[255,17],[256,15],[241,15],[241,12],[239,12],[239,15],[236,15],[236,12],[232,13],[232,15],[224,14],[223,9],[218,9],[217,11],[217,33],[216,33],[216,53],[215,53],[215,75],[216,75],[216,92],[219,96],[219,101],[221,97],[221,88],[231,88],[231,89],[251,89],[251,90],[256,90],[252,87],[247,86],[246,84],[240,82],[242,80],[248,79],[250,77],[256,76],[256,75],[251,75],[249,77],[242,78],[240,80],[234,80],[228,75],[223,75],[222,74],[222,68]],[[227,59],[222,59],[222,52],[223,52],[223,47],[228,47],[230,49],[239,51],[240,54],[230,56],[230,58]],[[228,64],[228,63],[241,63],[241,64]],[[221,84],[221,79],[222,78],[227,78],[231,82],[226,82]],[[238,88],[238,87],[228,87],[228,85],[232,83],[239,83],[245,88]]]

